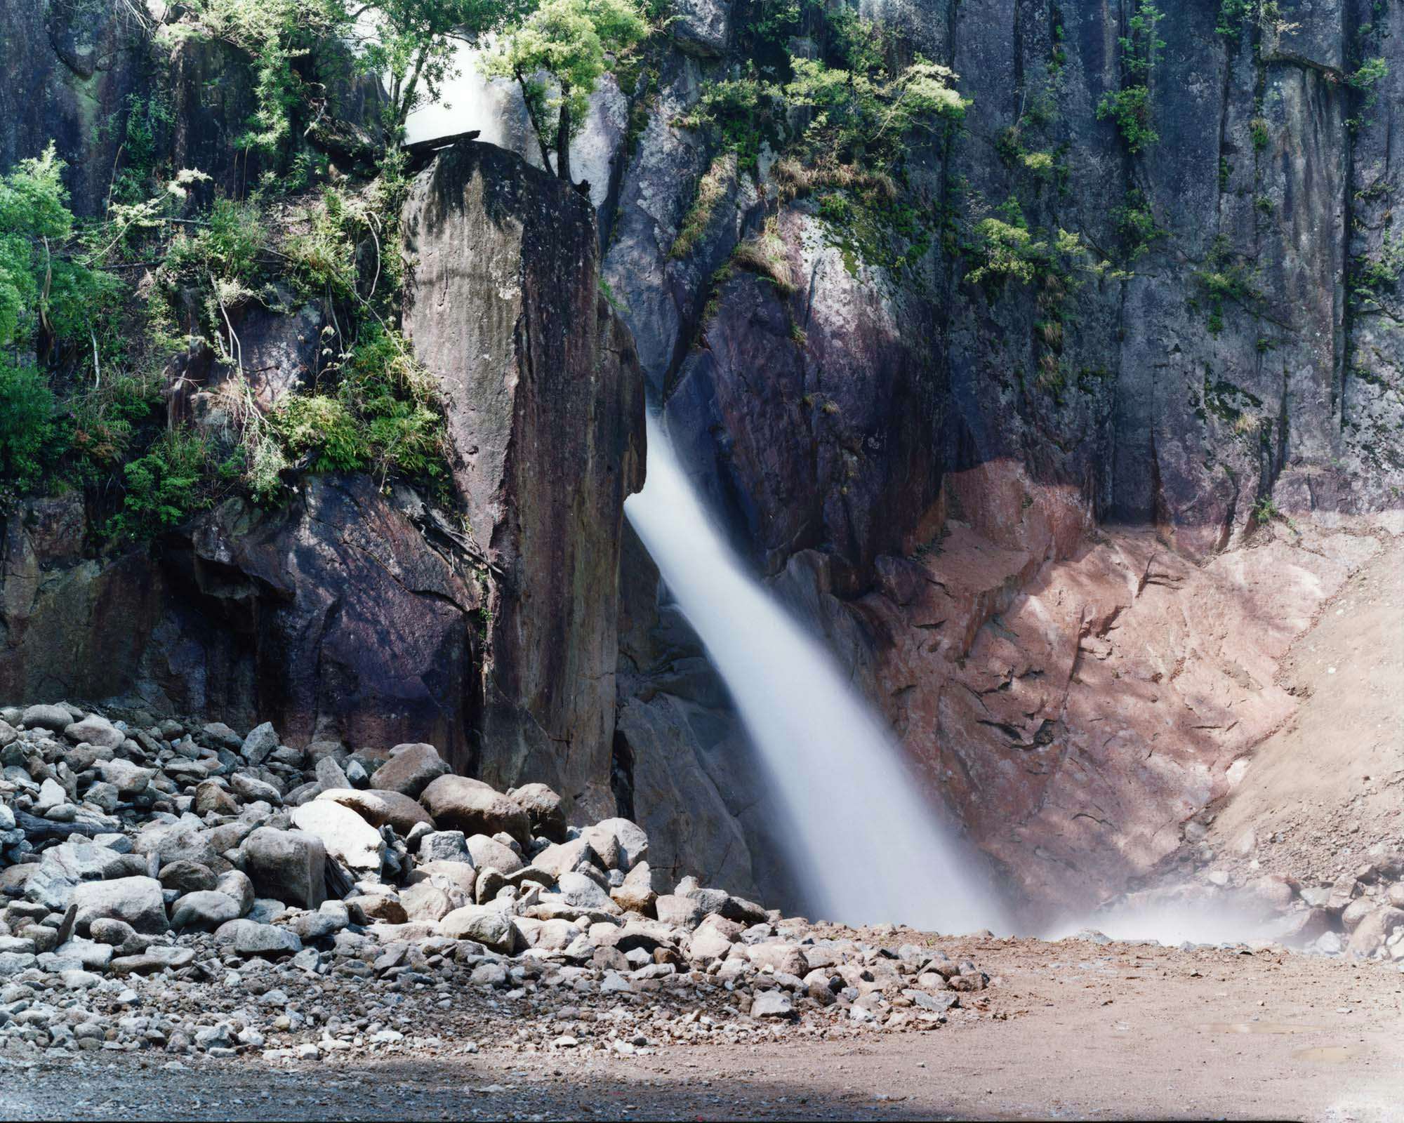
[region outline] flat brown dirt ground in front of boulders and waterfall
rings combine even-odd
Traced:
[[[271,1067],[86,1054],[0,1072],[8,1119],[1404,1117],[1404,973],[1259,950],[942,941],[997,981],[922,1033],[633,1057]]]

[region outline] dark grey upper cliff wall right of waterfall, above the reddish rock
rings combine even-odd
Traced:
[[[733,188],[694,254],[670,257],[713,156],[677,122],[701,83],[739,60],[684,42],[688,29],[660,65],[660,91],[636,107],[647,124],[602,219],[615,232],[604,271],[674,441],[757,571],[828,636],[899,733],[960,738],[914,751],[994,761],[994,727],[952,716],[966,695],[913,671],[938,640],[948,644],[948,613],[893,623],[908,611],[893,604],[921,598],[894,592],[890,574],[914,560],[921,581],[942,580],[943,531],[972,526],[1026,559],[1008,580],[991,574],[997,594],[976,597],[970,634],[952,642],[967,651],[997,646],[998,613],[1047,562],[1074,559],[1098,522],[1150,525],[1202,564],[1259,533],[1252,511],[1265,498],[1323,525],[1400,507],[1404,302],[1390,274],[1400,264],[1391,153],[1404,8],[1285,3],[1289,31],[1244,22],[1224,35],[1219,0],[1161,4],[1165,45],[1148,80],[1160,139],[1130,153],[1097,117],[1122,84],[1118,39],[1130,3],[861,7],[911,51],[952,66],[972,98],[963,126],[908,161],[903,199],[938,227],[917,267],[894,275],[855,261],[812,201],[761,202],[764,182]],[[733,44],[744,18],[746,6],[734,6]],[[1362,88],[1353,76],[1376,56],[1389,73]],[[1001,154],[1016,124],[1026,150],[1054,156],[1054,177]],[[1109,267],[1073,268],[1066,291],[967,282],[974,261],[962,243],[1011,197],[1035,230],[1078,233],[1090,248],[1081,265]],[[1122,230],[1129,205],[1160,230],[1134,257]],[[795,292],[734,270],[709,292],[716,267],[765,215],[775,216]],[[1228,296],[1216,299],[1216,275],[1233,282]],[[889,606],[869,611],[865,598]],[[682,761],[675,776],[705,773],[709,754],[743,752],[724,692],[699,689],[701,672],[680,679],[696,654],[654,623],[626,651],[636,674],[621,675],[622,729]],[[907,670],[879,672],[883,663]],[[1046,713],[1063,720],[1057,707]],[[644,758],[636,747],[636,772]],[[962,816],[966,788],[936,786]],[[701,779],[689,792],[708,796]],[[649,799],[636,793],[640,807]],[[1014,802],[998,810],[1018,814]],[[698,838],[681,816],[671,821]],[[744,830],[740,838],[746,858],[760,860],[761,839]],[[681,849],[716,865],[701,842]],[[1101,869],[1119,876],[1115,856]]]

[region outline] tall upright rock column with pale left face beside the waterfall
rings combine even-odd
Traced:
[[[453,484],[490,570],[477,738],[458,771],[614,811],[623,500],[643,484],[643,378],[598,293],[587,199],[459,145],[404,208],[404,331],[438,378]]]

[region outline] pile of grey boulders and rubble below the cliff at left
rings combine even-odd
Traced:
[[[0,1057],[403,1051],[465,1012],[459,1050],[632,1053],[935,1029],[990,983],[929,936],[660,884],[637,824],[428,744],[125,719],[0,710]]]

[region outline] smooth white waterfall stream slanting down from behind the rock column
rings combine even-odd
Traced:
[[[736,699],[809,908],[848,924],[1002,926],[837,661],[746,573],[651,417],[647,435],[647,481],[625,514]]]

